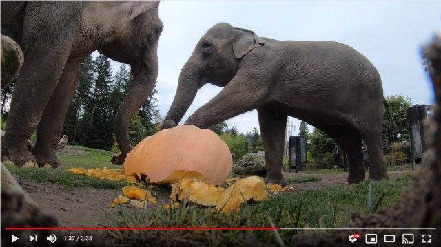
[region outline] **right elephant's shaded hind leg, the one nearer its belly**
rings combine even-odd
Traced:
[[[362,138],[358,131],[353,127],[336,127],[327,131],[329,136],[334,138],[346,153],[349,163],[349,175],[347,182],[349,184],[358,184],[365,180],[365,166],[362,160]]]

